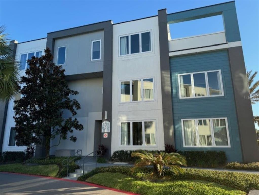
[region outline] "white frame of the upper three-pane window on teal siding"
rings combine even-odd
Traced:
[[[208,84],[208,72],[216,72],[219,71],[220,74],[220,86],[222,89],[222,94],[220,95],[210,95],[209,91],[209,84]],[[204,73],[205,74],[205,83],[206,83],[206,93],[207,96],[195,96],[195,91],[194,91],[194,80],[193,80],[193,74],[197,73]],[[192,85],[192,97],[181,97],[181,85],[180,85],[180,76],[182,75],[190,75],[191,76],[191,85]],[[222,82],[222,75],[221,75],[221,70],[209,70],[209,71],[200,71],[200,72],[190,72],[190,73],[183,73],[183,74],[178,74],[178,90],[179,90],[179,99],[191,99],[191,98],[207,98],[207,97],[220,97],[224,96],[224,88],[223,88],[223,82]]]

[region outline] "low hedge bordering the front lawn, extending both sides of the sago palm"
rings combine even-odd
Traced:
[[[87,174],[79,177],[77,180],[86,181],[89,177],[104,172],[121,173],[135,178],[146,178],[152,174],[152,168],[138,169],[134,172],[128,166],[110,166],[98,167]],[[175,175],[172,170],[164,171],[166,178],[172,180],[195,179],[211,181],[221,185],[233,187],[238,190],[248,192],[251,188],[259,190],[259,174],[237,173],[229,171],[210,171],[202,169],[187,168],[183,173]]]

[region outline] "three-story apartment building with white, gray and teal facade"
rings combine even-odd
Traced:
[[[171,39],[169,24],[220,15],[222,32]],[[75,143],[61,140],[51,155],[77,149],[87,155],[104,144],[110,157],[117,150],[164,150],[168,143],[181,151],[225,151],[229,162],[259,160],[234,2],[172,14],[163,9],[11,44],[23,72],[26,59],[49,47],[69,87],[79,91],[70,98],[81,104],[76,117],[84,130],[74,131]],[[25,149],[15,145],[13,106],[13,100],[1,105],[1,151]],[[105,136],[103,121],[110,122]]]

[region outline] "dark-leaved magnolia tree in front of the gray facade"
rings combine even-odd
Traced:
[[[50,49],[40,58],[32,57],[27,63],[26,76],[19,81],[21,99],[15,101],[16,145],[28,146],[43,144],[46,148],[46,159],[49,159],[51,147],[59,145],[61,139],[76,142],[74,130],[81,131],[83,125],[74,116],[81,109],[69,94],[77,95],[78,91],[69,89],[65,80],[64,69],[52,63]],[[23,86],[23,87],[22,87]],[[63,112],[68,110],[71,117],[64,118]],[[55,145],[51,140],[58,137]]]

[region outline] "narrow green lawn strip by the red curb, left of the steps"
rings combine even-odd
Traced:
[[[26,173],[32,175],[42,175],[49,177],[56,177],[59,172],[58,165],[23,165],[23,164],[6,164],[0,165],[0,171]]]

